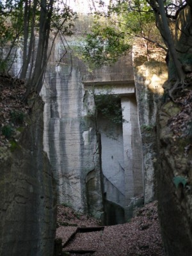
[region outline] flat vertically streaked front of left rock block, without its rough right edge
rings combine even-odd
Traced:
[[[81,195],[81,118],[83,94],[78,83],[80,74],[70,65],[49,65],[45,77],[44,148],[58,184],[59,202],[83,208]],[[48,86],[47,86],[48,85]],[[80,85],[81,86],[81,85]],[[79,105],[79,102],[82,102]],[[48,124],[46,123],[47,118]],[[70,163],[69,163],[70,162]]]

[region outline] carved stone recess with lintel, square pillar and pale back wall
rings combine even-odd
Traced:
[[[86,88],[92,88],[95,95],[113,94],[119,95],[121,98],[124,119],[121,125],[109,122],[108,118],[104,118],[104,116],[97,116],[97,125],[101,133],[104,207],[115,212],[115,218],[118,221],[123,214],[122,211],[116,212],[115,209],[122,207],[124,221],[129,220],[132,217],[134,198],[143,194],[143,165],[138,109],[134,96],[134,81],[130,76],[131,58],[130,56],[127,58],[129,58],[127,61],[129,63],[127,80],[105,81],[105,74],[102,74],[102,77],[100,72],[100,82],[96,78],[92,79],[92,82],[90,80],[84,81]],[[121,61],[119,67],[122,67],[124,63],[123,60]],[[124,79],[125,76],[122,77]],[[129,78],[130,80],[128,80]],[[107,99],[106,106],[108,106]],[[111,215],[108,212],[105,214],[108,223],[108,219],[111,221]]]

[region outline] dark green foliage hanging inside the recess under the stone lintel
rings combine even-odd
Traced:
[[[122,108],[118,95],[95,95],[97,113],[111,120],[115,124],[122,124]]]

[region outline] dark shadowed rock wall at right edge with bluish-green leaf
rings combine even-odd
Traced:
[[[189,95],[183,102],[190,102]],[[168,101],[159,111],[159,217],[166,255],[187,256],[192,252],[192,201],[190,146],[191,111]],[[185,116],[185,118],[183,118]]]

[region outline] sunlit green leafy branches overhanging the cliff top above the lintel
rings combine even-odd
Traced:
[[[115,62],[129,51],[136,38],[142,38],[141,47],[147,48],[147,54],[148,44],[162,43],[154,14],[146,1],[111,3],[107,13],[95,14],[92,33],[86,36],[84,42],[83,57],[96,67]]]

